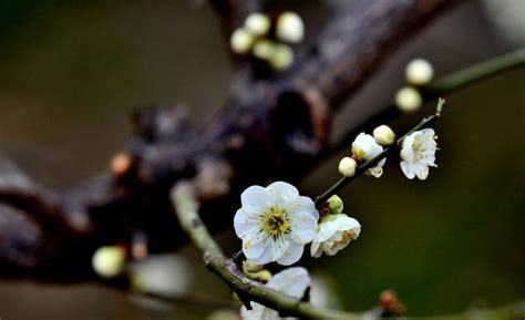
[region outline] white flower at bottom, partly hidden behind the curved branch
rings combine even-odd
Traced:
[[[301,298],[310,286],[310,276],[308,275],[307,269],[302,267],[282,270],[266,283],[266,287],[294,298]],[[240,308],[240,317],[244,320],[296,319],[280,318],[276,310],[266,308],[256,302],[251,302],[251,310],[247,310],[245,307]]]

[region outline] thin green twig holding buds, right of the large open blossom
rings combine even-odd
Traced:
[[[375,166],[381,159],[383,159],[388,154],[392,153],[393,151],[398,149],[398,146],[403,143],[403,140],[410,135],[413,132],[416,132],[419,130],[431,126],[437,118],[441,117],[441,112],[443,110],[445,101],[441,100],[437,103],[436,106],[436,112],[429,116],[423,118],[418,125],[415,125],[412,130],[410,130],[408,133],[405,133],[402,137],[398,138],[398,141],[383,148],[383,151],[377,155],[375,157],[367,161],[362,165],[360,165],[356,169],[356,174],[351,177],[342,177],[340,178],[337,183],[334,183],[331,187],[329,187],[325,193],[322,193],[320,196],[316,198],[316,207],[320,207],[322,204],[325,204],[331,196],[337,194],[340,189],[342,189],[344,186],[353,182],[356,178],[364,174],[368,169],[371,167]]]

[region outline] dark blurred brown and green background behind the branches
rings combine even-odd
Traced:
[[[107,168],[140,105],[179,105],[203,127],[220,110],[235,65],[204,1],[3,0],[0,4],[0,154],[62,188]],[[346,1],[281,1],[307,35]],[[513,18],[514,17],[514,18]],[[466,1],[411,40],[338,115],[333,136],[387,105],[403,68],[425,58],[443,75],[525,45],[525,1]],[[439,168],[426,182],[390,163],[381,179],[341,194],[362,234],[334,258],[306,261],[332,279],[344,308],[364,310],[398,290],[409,314],[443,314],[525,297],[525,70],[446,96],[436,125]],[[362,105],[370,107],[357,113]],[[392,124],[403,131],[421,114]],[[300,185],[315,196],[338,177],[336,156]],[[238,246],[231,231],[219,238]],[[194,265],[192,291],[230,293]],[[334,293],[336,295],[336,293]],[[94,285],[0,281],[0,318],[203,319],[191,304],[147,308]]]

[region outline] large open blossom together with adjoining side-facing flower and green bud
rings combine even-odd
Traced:
[[[342,214],[342,202],[331,204],[333,217],[319,223],[319,211],[309,197],[296,187],[276,182],[264,188],[248,187],[240,196],[241,208],[234,218],[236,235],[243,240],[243,252],[253,265],[297,262],[305,246],[311,255],[334,255],[359,236],[359,223]]]

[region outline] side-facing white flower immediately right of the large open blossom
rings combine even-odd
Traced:
[[[317,227],[316,238],[311,242],[310,255],[319,258],[322,252],[333,256],[356,240],[361,233],[361,225],[344,214],[328,215]]]

